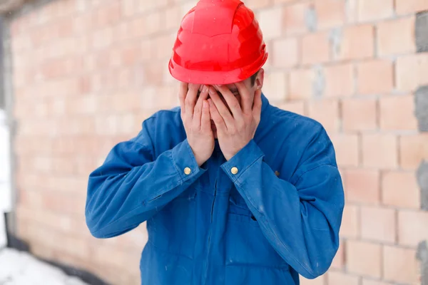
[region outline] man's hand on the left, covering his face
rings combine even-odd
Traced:
[[[180,83],[181,120],[193,155],[198,165],[203,165],[214,150],[214,135],[211,129],[208,87]],[[198,90],[200,90],[198,98]]]

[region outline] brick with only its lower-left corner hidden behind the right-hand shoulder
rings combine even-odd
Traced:
[[[334,133],[339,130],[339,102],[337,100],[313,100],[308,105],[310,118],[320,122],[325,130]]]

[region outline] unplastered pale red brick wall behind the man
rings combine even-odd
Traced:
[[[340,251],[325,276],[302,284],[417,284],[417,245],[428,239],[428,1],[245,3],[270,51],[265,94],[325,126],[345,183]],[[177,104],[167,63],[194,4],[36,1],[10,17],[17,222],[36,254],[138,284],[144,224],[93,239],[86,181],[144,118]]]

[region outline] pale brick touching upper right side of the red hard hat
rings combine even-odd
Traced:
[[[277,7],[260,9],[257,13],[257,19],[260,24],[260,28],[263,31],[263,38],[268,40],[281,36],[281,24],[283,19],[281,9],[278,9]]]

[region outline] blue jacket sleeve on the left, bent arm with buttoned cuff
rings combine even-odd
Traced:
[[[118,143],[89,175],[85,214],[93,237],[116,237],[138,227],[205,172],[187,140],[154,159],[150,120],[138,140]]]

